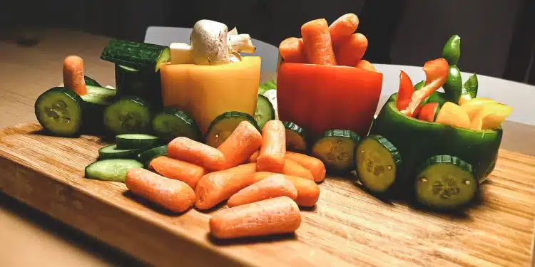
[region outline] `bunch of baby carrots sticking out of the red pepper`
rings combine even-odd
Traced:
[[[359,18],[345,14],[327,24],[325,19],[315,19],[301,26],[302,38],[290,37],[279,45],[284,62],[317,65],[338,65],[375,70],[372,63],[362,59],[368,47],[368,39],[355,33]]]

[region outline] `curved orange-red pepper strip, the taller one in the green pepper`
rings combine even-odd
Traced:
[[[417,108],[419,108],[422,101],[446,83],[449,73],[448,62],[444,58],[427,61],[424,64],[424,72],[424,87],[412,94],[409,105],[402,110],[402,113],[409,117],[415,117],[417,115]]]

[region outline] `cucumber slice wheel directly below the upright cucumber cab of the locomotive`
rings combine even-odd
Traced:
[[[104,125],[115,135],[146,133],[151,127],[151,110],[143,99],[126,96],[104,110]]]

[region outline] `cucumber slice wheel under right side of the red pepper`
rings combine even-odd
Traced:
[[[349,172],[355,167],[355,147],[360,137],[351,130],[328,130],[312,146],[312,155],[321,159],[327,170]]]

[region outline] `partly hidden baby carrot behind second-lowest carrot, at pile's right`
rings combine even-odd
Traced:
[[[257,172],[255,173],[255,182],[271,177],[272,172]],[[314,181],[302,177],[283,174],[288,181],[292,182],[295,189],[297,189],[297,198],[295,203],[299,206],[314,206],[317,199],[320,199],[320,187]]]

